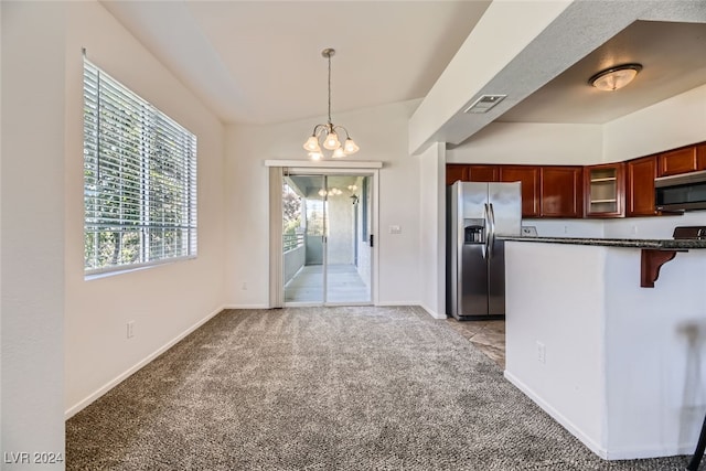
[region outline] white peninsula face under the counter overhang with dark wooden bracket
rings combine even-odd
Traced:
[[[640,288],[640,251],[610,251],[603,277],[609,457],[693,453],[706,413],[706,253],[677,254],[654,288]]]

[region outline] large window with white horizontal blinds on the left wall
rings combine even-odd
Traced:
[[[196,137],[84,61],[84,269],[196,255]]]

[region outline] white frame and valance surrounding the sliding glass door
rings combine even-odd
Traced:
[[[282,253],[282,208],[281,208],[281,184],[285,174],[321,174],[321,175],[365,175],[371,178],[371,227],[370,235],[373,235],[372,269],[371,269],[371,300],[366,302],[353,303],[315,303],[311,306],[376,306],[379,292],[378,266],[379,251],[378,237],[378,214],[379,214],[379,169],[382,162],[363,161],[325,161],[313,162],[306,160],[266,160],[265,165],[269,168],[269,307],[285,307],[284,287],[284,253]],[[325,282],[325,279],[324,279]],[[297,306],[304,306],[297,303]]]

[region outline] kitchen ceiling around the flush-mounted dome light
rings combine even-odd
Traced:
[[[643,66],[616,92],[588,84],[619,64]],[[706,84],[706,23],[635,21],[503,114],[505,122],[605,124]]]

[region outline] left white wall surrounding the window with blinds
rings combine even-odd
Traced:
[[[224,133],[215,116],[99,3],[66,4],[64,404],[72,415],[222,308],[225,176]],[[196,259],[84,279],[82,47],[92,62],[196,135]],[[47,51],[38,61],[52,57]],[[128,321],[135,322],[129,340]]]

